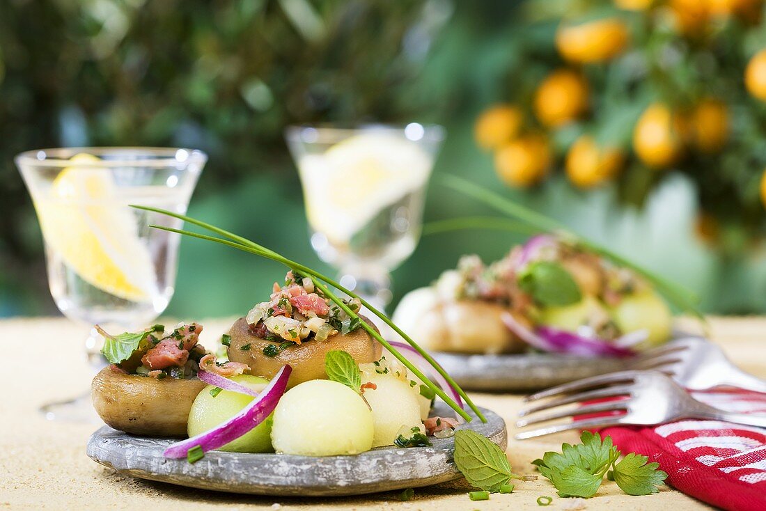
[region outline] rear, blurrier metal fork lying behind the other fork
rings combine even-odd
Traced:
[[[628,362],[627,369],[664,372],[690,390],[732,385],[766,392],[764,380],[742,371],[726,358],[719,346],[699,337],[676,339],[643,352]]]

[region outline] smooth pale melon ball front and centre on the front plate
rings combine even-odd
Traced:
[[[274,410],[271,442],[278,453],[303,456],[358,454],[372,448],[372,412],[342,383],[296,385]]]

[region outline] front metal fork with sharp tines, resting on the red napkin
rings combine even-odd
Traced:
[[[591,429],[620,424],[649,426],[685,418],[712,419],[766,427],[766,415],[736,414],[705,405],[689,396],[669,376],[656,371],[621,371],[584,378],[578,382],[558,385],[532,394],[525,398],[525,401],[539,401],[555,396],[558,397],[552,401],[519,411],[519,417],[524,418],[516,422],[516,427],[526,427],[584,414],[604,414],[604,416],[522,431],[515,435],[516,440],[572,429]],[[604,398],[614,399],[583,406],[559,408],[563,405]]]

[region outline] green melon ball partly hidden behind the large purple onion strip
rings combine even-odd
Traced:
[[[237,382],[245,387],[252,388],[254,391],[260,391],[267,384],[264,378],[250,375],[232,376],[232,382]],[[253,397],[239,392],[220,391],[213,396],[210,392],[216,388],[214,385],[208,385],[197,395],[194,403],[191,405],[188,418],[188,434],[193,437],[214,427],[223,424],[228,419],[234,417],[242,408],[253,401]],[[271,422],[269,416],[265,421],[258,424],[252,430],[241,437],[220,447],[220,450],[228,450],[237,453],[270,453],[271,447]]]

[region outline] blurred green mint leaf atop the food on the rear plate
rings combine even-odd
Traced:
[[[552,261],[527,265],[519,274],[519,287],[542,306],[563,306],[582,300],[580,287],[571,274]]]

